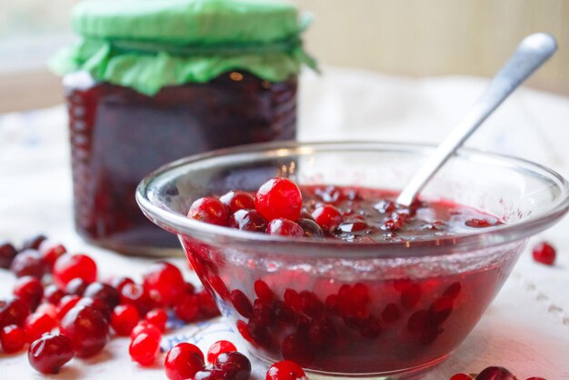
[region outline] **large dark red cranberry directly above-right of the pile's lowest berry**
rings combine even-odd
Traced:
[[[61,321],[61,334],[71,340],[78,357],[98,354],[109,339],[105,316],[89,306],[75,306]]]

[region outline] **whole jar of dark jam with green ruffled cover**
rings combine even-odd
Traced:
[[[135,204],[136,185],[186,155],[294,139],[297,75],[314,68],[305,21],[272,1],[76,5],[81,39],[52,68],[65,75],[77,232],[125,254],[177,250]]]

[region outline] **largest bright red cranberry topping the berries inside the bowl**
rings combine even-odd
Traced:
[[[255,208],[267,221],[276,218],[297,220],[302,205],[300,189],[288,178],[268,180],[255,196]]]

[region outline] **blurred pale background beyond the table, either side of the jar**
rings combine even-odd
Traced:
[[[73,41],[77,1],[0,0],[0,113],[62,103],[45,61]],[[569,0],[289,1],[314,15],[304,39],[322,64],[394,75],[490,76],[524,35],[552,33],[559,51],[529,85],[569,95]]]

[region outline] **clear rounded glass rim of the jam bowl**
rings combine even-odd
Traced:
[[[473,232],[472,234],[444,236],[442,238],[439,237],[414,242],[365,242],[354,244],[336,239],[291,238],[241,231],[219,225],[210,225],[193,220],[185,215],[166,209],[165,207],[155,205],[148,197],[152,183],[160,175],[165,175],[169,171],[185,165],[193,165],[197,162],[226,158],[231,155],[260,154],[265,151],[275,151],[275,157],[284,157],[296,151],[300,151],[299,154],[303,155],[325,149],[349,151],[354,150],[355,146],[359,147],[358,151],[361,151],[362,147],[365,147],[367,150],[403,150],[415,154],[428,154],[436,147],[436,145],[422,143],[350,140],[328,142],[288,141],[238,145],[199,155],[190,155],[157,168],[152,173],[146,175],[137,186],[135,199],[146,217],[156,225],[176,235],[191,236],[206,245],[232,245],[235,248],[239,247],[252,253],[271,252],[283,255],[314,255],[316,257],[336,258],[408,258],[466,254],[482,248],[504,245],[529,238],[531,235],[543,231],[550,225],[556,223],[569,209],[569,184],[563,175],[558,174],[553,169],[544,165],[536,164],[524,158],[489,153],[472,148],[460,148],[454,156],[474,161],[482,160],[486,164],[502,165],[510,169],[514,167],[524,167],[526,169],[525,171],[533,172],[534,175],[541,172],[539,175],[546,175],[547,179],[553,181],[558,186],[560,191],[559,195],[557,195],[558,201],[550,208],[540,210],[539,213],[530,215],[527,219],[519,223],[486,227],[484,230]]]

